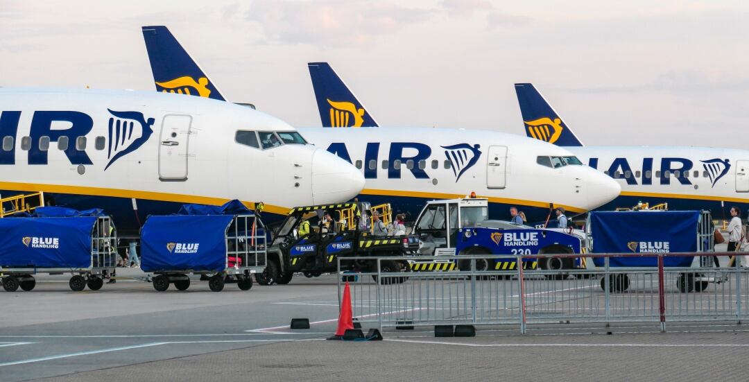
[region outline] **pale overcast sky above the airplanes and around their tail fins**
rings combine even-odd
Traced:
[[[126,4],[127,3],[127,4]],[[0,85],[153,90],[167,25],[225,97],[318,127],[328,61],[381,126],[523,133],[533,82],[586,145],[749,146],[747,1],[0,0]]]

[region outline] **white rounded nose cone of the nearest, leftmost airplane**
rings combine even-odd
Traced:
[[[312,200],[315,204],[351,200],[364,189],[364,175],[351,163],[321,148],[312,154]]]

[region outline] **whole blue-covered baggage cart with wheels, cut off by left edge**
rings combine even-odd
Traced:
[[[31,291],[38,273],[70,273],[70,289],[98,291],[117,266],[117,231],[103,210],[36,207],[0,219],[0,274],[5,291]]]

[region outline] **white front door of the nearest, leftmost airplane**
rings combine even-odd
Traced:
[[[159,180],[187,181],[187,145],[192,117],[167,115],[159,135]]]

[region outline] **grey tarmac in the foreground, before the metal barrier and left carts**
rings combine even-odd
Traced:
[[[118,276],[142,276],[118,270]],[[336,330],[336,279],[290,285],[207,282],[188,291],[119,280],[70,291],[39,276],[31,292],[0,292],[0,381],[463,381],[542,378],[746,381],[749,327],[736,322],[479,327],[472,338],[431,328],[386,330],[382,342],[325,341]],[[290,330],[309,318],[310,330]],[[365,325],[365,331],[366,331]],[[611,333],[611,335],[607,335]]]

